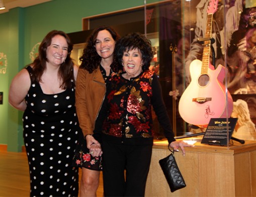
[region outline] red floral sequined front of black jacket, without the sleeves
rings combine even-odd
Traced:
[[[145,71],[133,81],[126,81],[119,74],[111,78],[111,92],[107,97],[109,114],[103,123],[104,133],[115,137],[122,137],[122,133],[128,137],[135,133],[142,137],[151,136],[153,75],[154,71]]]

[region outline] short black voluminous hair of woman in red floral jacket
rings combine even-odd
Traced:
[[[117,41],[114,51],[115,61],[122,65],[124,52],[135,48],[142,54],[142,70],[147,70],[153,58],[153,50],[150,40],[141,33],[129,33]]]

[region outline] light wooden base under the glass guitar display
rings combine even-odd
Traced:
[[[167,141],[155,142],[145,196],[255,196],[256,195],[256,142],[212,146],[201,144],[175,152],[175,158],[187,186],[173,193],[158,163],[170,154]],[[181,140],[181,139],[180,139]],[[189,140],[182,139],[182,140]]]

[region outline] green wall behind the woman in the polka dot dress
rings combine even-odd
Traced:
[[[147,0],[147,4],[153,2],[160,1]],[[21,151],[23,113],[8,104],[8,93],[12,78],[31,62],[29,54],[36,43],[53,29],[66,33],[81,31],[84,17],[143,5],[144,0],[53,0],[0,14],[0,53],[8,59],[7,72],[0,73],[0,92],[4,92],[4,103],[0,105],[0,144],[7,144],[8,151]]]

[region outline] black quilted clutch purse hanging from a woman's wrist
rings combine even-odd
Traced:
[[[174,151],[170,150],[170,152],[172,152],[170,155],[159,160],[159,164],[170,187],[170,191],[174,192],[186,187],[186,183],[175,160]]]

